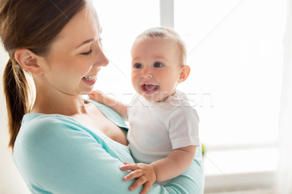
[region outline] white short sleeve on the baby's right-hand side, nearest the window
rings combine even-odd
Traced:
[[[188,145],[200,146],[199,116],[190,106],[177,106],[166,116],[164,123],[169,129],[172,149]]]

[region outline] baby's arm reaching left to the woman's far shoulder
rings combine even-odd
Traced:
[[[121,102],[108,97],[105,93],[103,93],[100,90],[93,90],[90,94],[88,94],[88,96],[91,100],[95,100],[96,102],[109,106],[111,109],[117,112],[121,117],[123,117],[123,119],[128,120],[128,115],[127,115],[128,105],[127,104],[122,104]]]

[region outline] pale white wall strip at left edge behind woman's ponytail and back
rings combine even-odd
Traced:
[[[7,148],[9,134],[2,83],[7,61],[8,54],[0,47],[0,194],[29,194],[30,192],[12,160],[12,151]]]

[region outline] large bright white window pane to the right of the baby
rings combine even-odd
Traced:
[[[203,143],[277,139],[287,1],[240,1],[174,1]]]

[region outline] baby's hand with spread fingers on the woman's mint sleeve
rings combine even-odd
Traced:
[[[155,169],[151,164],[144,163],[128,163],[124,162],[125,166],[121,166],[121,170],[131,170],[133,172],[129,173],[124,177],[125,181],[137,178],[137,180],[129,187],[130,191],[134,191],[140,185],[144,184],[144,188],[140,194],[146,194],[150,189],[151,185],[156,181]]]

